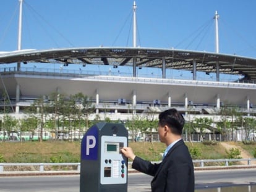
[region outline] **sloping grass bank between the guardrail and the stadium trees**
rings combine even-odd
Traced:
[[[226,150],[220,144],[186,143],[194,159],[224,159]],[[253,154],[256,145],[237,143]],[[163,143],[129,143],[137,156],[148,161],[161,161]],[[80,162],[80,142],[44,141],[25,143],[0,143],[0,162]]]

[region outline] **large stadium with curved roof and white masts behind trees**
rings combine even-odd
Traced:
[[[135,14],[134,2],[134,14]],[[216,26],[218,14],[215,15]],[[134,25],[135,28],[135,25]],[[134,29],[136,31],[136,29]],[[216,36],[218,31],[216,30]],[[98,47],[65,49],[20,49],[0,53],[1,96],[7,93],[13,114],[22,118],[23,110],[36,99],[53,92],[61,94],[83,93],[92,98],[95,112],[111,120],[132,119],[147,112],[158,114],[175,107],[187,121],[196,117],[220,120],[221,106],[237,106],[244,115],[255,114],[256,59],[216,52],[188,51],[180,49]],[[62,67],[25,67],[30,64],[58,64]],[[8,65],[10,64],[10,67]],[[12,65],[11,65],[12,64]],[[13,67],[13,64],[15,67]],[[69,66],[79,65],[79,69]],[[109,70],[91,72],[88,65],[108,66]],[[111,69],[130,67],[132,73],[112,72]],[[158,69],[161,75],[138,75],[142,69]],[[172,71],[189,72],[190,79],[172,75]],[[214,74],[208,80],[200,80],[198,73]],[[221,75],[234,75],[236,80],[224,81]],[[3,99],[2,99],[3,101]],[[10,103],[8,105],[10,105]],[[5,104],[2,102],[1,107]],[[157,116],[156,116],[157,117]]]

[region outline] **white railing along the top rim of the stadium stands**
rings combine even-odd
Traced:
[[[218,86],[227,88],[255,88],[255,81],[239,81],[234,82],[233,80],[221,80],[215,81],[211,78],[203,78],[202,80],[192,80],[192,77],[179,77],[179,75],[162,78],[161,75],[152,74],[139,74],[138,77],[132,77],[132,73],[126,72],[108,72],[108,71],[96,71],[96,70],[82,70],[82,69],[63,69],[54,68],[37,68],[37,67],[22,67],[18,72],[16,67],[4,67],[0,68],[0,72],[9,73],[27,73],[27,75],[54,75],[64,77],[82,77],[104,81],[136,81],[140,83],[150,84],[177,84],[177,85],[191,85],[191,86]]]

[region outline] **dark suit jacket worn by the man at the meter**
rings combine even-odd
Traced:
[[[154,177],[152,192],[194,192],[194,166],[183,140],[174,144],[160,164],[136,156],[132,168]]]

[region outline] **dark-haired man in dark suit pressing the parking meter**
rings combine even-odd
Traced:
[[[166,144],[163,161],[152,164],[135,156],[131,148],[122,148],[121,152],[132,159],[132,168],[153,176],[152,192],[194,192],[194,166],[182,140],[182,128],[185,120],[176,109],[161,112],[158,122],[160,141]]]

